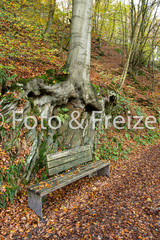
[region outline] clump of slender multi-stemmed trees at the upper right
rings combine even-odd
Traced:
[[[157,1],[139,1],[137,7],[131,1],[131,26],[133,29],[131,42],[138,22],[138,32],[130,59],[130,68],[132,70],[142,67],[152,52],[152,41],[150,41],[152,31],[156,28],[155,36],[157,36],[159,29],[159,23],[156,21],[158,7],[159,3]]]

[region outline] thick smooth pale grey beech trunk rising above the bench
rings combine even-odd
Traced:
[[[74,0],[67,58],[68,81],[86,105],[100,109],[90,81],[91,23],[93,0]]]

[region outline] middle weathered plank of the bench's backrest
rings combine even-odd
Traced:
[[[59,165],[63,165],[67,162],[72,162],[72,161],[75,161],[75,160],[78,160],[78,159],[82,159],[84,157],[88,157],[88,158],[86,158],[87,162],[91,161],[92,160],[91,151],[76,153],[75,155],[72,155],[72,156],[66,156],[66,157],[63,157],[61,159],[56,159],[56,160],[53,160],[53,161],[49,161],[49,162],[47,162],[47,167],[48,167],[48,169],[50,169],[50,168],[53,168],[53,167],[57,167]],[[71,167],[72,167],[72,163],[71,163]]]

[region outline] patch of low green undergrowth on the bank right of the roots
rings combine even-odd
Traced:
[[[135,104],[135,101],[131,101],[127,99],[123,94],[117,94],[117,104],[110,112],[110,116],[112,120],[115,116],[123,116],[125,120],[127,116],[144,116],[147,117],[145,113],[145,109],[141,106]],[[153,111],[154,116],[157,117],[157,110]],[[132,119],[132,126],[136,123],[135,120]],[[145,121],[142,120],[142,124]],[[104,124],[105,125],[105,124]],[[144,129],[136,130],[136,129],[128,129],[127,121],[125,122],[124,129],[115,129],[111,125],[106,129],[105,126],[102,125],[100,131],[98,131],[99,142],[97,150],[95,151],[95,159],[103,159],[103,160],[119,160],[128,158],[132,149],[137,145],[151,145],[155,144],[156,140],[160,138],[160,131],[158,128],[159,119],[157,118],[157,125],[155,129],[148,129],[144,126]],[[121,124],[119,125],[121,126]]]

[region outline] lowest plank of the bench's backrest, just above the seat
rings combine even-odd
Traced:
[[[72,162],[65,163],[63,165],[59,165],[59,166],[54,167],[54,168],[50,168],[50,169],[48,169],[48,174],[49,174],[49,176],[53,176],[54,174],[63,172],[67,169],[70,169],[70,168],[75,167],[77,165],[81,165],[83,163],[86,163],[89,160],[90,161],[92,160],[91,158],[89,160],[88,159],[89,159],[89,157],[87,156],[87,157],[84,157],[84,158],[81,158],[81,159],[78,159],[78,160],[75,160],[75,161],[72,161]]]

